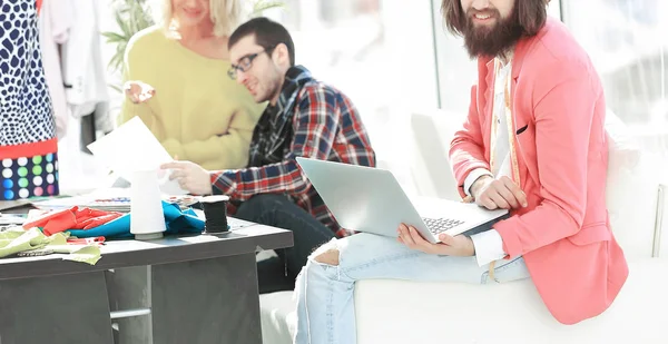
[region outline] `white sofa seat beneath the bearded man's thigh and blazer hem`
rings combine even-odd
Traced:
[[[668,343],[668,261],[647,258],[613,305],[559,324],[530,281],[469,285],[371,279],[356,284],[357,344]]]

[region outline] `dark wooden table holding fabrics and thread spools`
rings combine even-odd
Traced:
[[[62,255],[0,259],[0,343],[111,344],[112,322],[124,322],[110,313],[135,302],[149,314],[125,324],[140,343],[261,344],[255,254],[292,245],[289,230],[247,224],[222,235],[108,242],[96,265]]]

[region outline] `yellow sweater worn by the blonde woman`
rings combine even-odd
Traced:
[[[203,57],[165,36],[159,27],[130,39],[124,81],[153,86],[155,96],[135,105],[124,100],[120,121],[139,116],[165,149],[206,169],[242,168],[248,163],[253,129],[266,104],[256,104],[229,79],[227,60]]]

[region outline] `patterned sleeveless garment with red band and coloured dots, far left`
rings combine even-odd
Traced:
[[[0,0],[0,200],[58,195],[35,0]]]

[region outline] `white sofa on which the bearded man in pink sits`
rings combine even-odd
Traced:
[[[419,194],[459,199],[445,158],[461,118],[422,112],[413,115],[412,126],[412,175]],[[659,202],[660,178],[668,175],[625,137],[613,115],[607,129],[613,137],[608,207],[630,266],[629,279],[610,309],[566,326],[549,314],[530,281],[480,286],[363,281],[355,291],[357,342],[668,343],[668,259],[657,257],[661,248],[668,255],[668,232],[661,239],[658,226],[666,206]],[[261,308],[264,343],[291,343],[292,293],[262,295]]]

